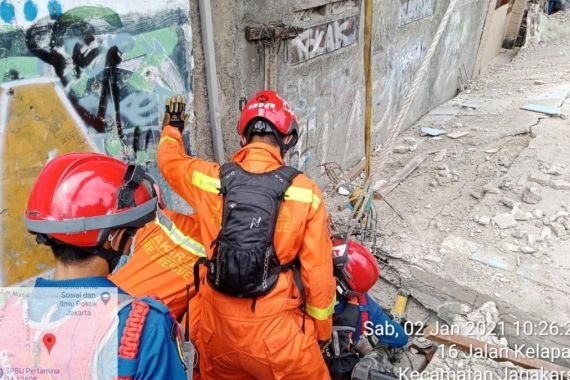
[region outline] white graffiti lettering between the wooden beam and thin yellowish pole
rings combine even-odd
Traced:
[[[358,21],[358,16],[352,16],[306,29],[291,40],[290,62],[305,62],[355,44],[358,41]]]

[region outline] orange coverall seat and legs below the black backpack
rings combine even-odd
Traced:
[[[204,306],[198,340],[203,379],[330,379],[311,319],[303,333],[302,316],[296,311],[235,321]]]

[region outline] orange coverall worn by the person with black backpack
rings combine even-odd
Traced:
[[[253,173],[283,165],[278,148],[251,143],[232,159]],[[184,153],[180,132],[164,128],[158,167],[170,186],[196,210],[208,257],[221,226],[223,199],[220,166]],[[285,194],[275,230],[275,251],[281,263],[298,255],[307,296],[305,333],[301,331],[301,299],[291,271],[275,288],[251,299],[226,296],[202,281],[199,339],[204,379],[329,379],[318,340],[332,334],[335,280],[328,215],[318,187],[298,175]]]

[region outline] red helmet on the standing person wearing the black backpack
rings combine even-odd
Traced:
[[[281,150],[286,152],[297,143],[299,124],[293,109],[285,99],[275,91],[260,91],[245,104],[238,123],[238,133],[245,136],[247,141],[254,131],[273,133],[281,145]],[[293,135],[293,140],[285,145],[282,142],[283,136],[289,135]]]

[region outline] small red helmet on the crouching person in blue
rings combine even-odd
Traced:
[[[370,250],[353,240],[333,241],[333,262],[341,294],[364,294],[380,276],[378,263]]]

